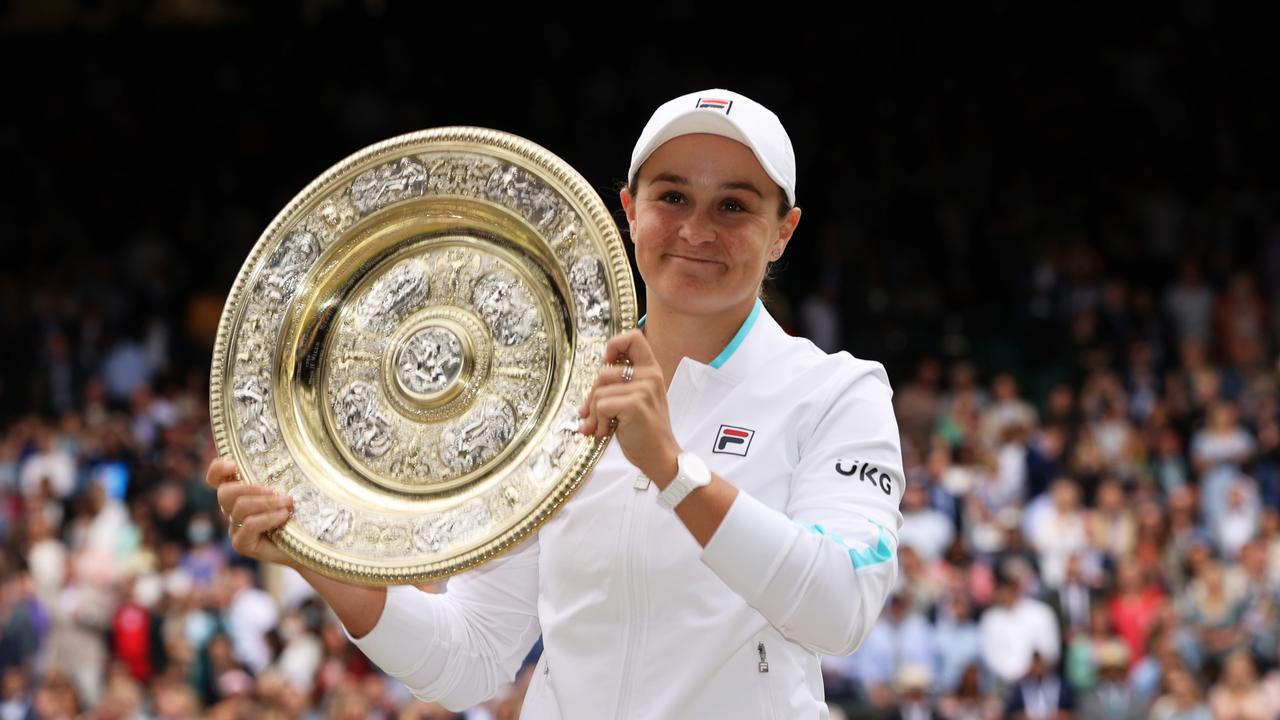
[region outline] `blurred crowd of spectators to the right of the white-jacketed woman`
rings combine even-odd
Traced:
[[[850,717],[1280,716],[1277,286],[1194,259],[1140,292],[1105,272],[1050,284],[1070,351],[1039,397],[965,360],[896,383],[900,583],[861,650],[827,659],[832,700]]]

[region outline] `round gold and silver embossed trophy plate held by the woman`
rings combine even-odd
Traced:
[[[210,420],[239,478],[294,498],[271,534],[362,584],[420,584],[520,544],[611,438],[576,433],[605,341],[635,327],[626,249],[568,164],[445,127],[300,192],[241,268]]]

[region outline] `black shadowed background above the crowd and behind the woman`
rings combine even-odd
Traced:
[[[177,332],[187,299],[225,293],[271,217],[343,156],[500,128],[617,213],[649,113],[705,87],[764,102],[792,136],[805,215],[778,313],[832,287],[844,345],[891,377],[938,354],[1046,386],[1034,375],[1070,351],[1042,322],[1061,307],[1029,315],[1047,258],[1130,292],[1188,256],[1217,282],[1263,268],[1280,63],[1240,5],[618,10],[584,26],[566,18],[599,9],[0,4],[4,336],[38,347],[67,318],[22,306],[64,288],[125,336],[166,315],[177,365],[207,364],[207,333]],[[4,377],[33,359],[6,354]],[[9,414],[31,401],[0,389]]]

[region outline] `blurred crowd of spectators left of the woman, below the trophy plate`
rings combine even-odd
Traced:
[[[82,384],[42,363],[58,413],[0,433],[0,717],[456,717],[370,667],[300,579],[269,593],[230,551],[204,374],[101,350]]]

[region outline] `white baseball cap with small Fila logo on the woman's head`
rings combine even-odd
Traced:
[[[750,147],[764,172],[782,187],[787,204],[796,204],[796,155],[782,122],[755,100],[721,88],[681,95],[653,113],[631,151],[627,184],[662,143],[696,132],[721,135]]]

